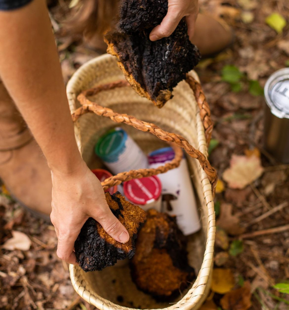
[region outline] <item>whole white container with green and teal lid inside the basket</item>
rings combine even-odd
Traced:
[[[147,156],[120,127],[116,127],[100,137],[94,151],[113,174],[148,168]]]

